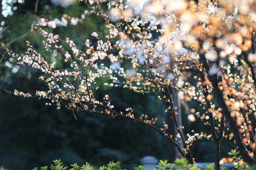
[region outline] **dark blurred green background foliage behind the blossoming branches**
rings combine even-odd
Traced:
[[[31,31],[33,22],[40,18],[61,19],[63,15],[81,18],[85,10],[90,11],[83,3],[64,1],[0,0],[0,42],[18,54],[24,54],[27,50],[25,41],[29,40],[42,56],[52,59],[52,54],[42,46],[43,37],[36,30]],[[76,42],[78,49],[83,50],[84,42],[92,32],[104,37],[105,25],[102,23],[104,21],[101,17],[91,14],[73,25],[43,28],[58,34],[60,41],[64,42],[69,37]],[[65,165],[82,165],[88,161],[96,167],[109,161],[121,161],[123,168],[131,170],[146,155],[155,156],[159,160],[168,159],[170,162],[175,159],[173,145],[148,127],[126,119],[113,119],[82,111],[75,113],[75,120],[71,111],[46,106],[44,100],[7,93],[5,90],[18,89],[35,94],[36,90],[44,90],[47,86],[38,80],[40,73],[37,70],[15,65],[15,61],[4,49],[0,53],[0,167],[31,170],[61,159]],[[56,66],[65,67],[61,62],[57,62]],[[156,126],[162,126],[163,121],[166,121],[165,104],[155,95],[142,95],[128,89],[102,85],[94,97],[102,98],[105,94],[110,95],[116,110],[131,107],[137,116],[147,114],[157,117]],[[186,127],[185,134],[188,133],[186,129],[190,129],[189,133],[191,129],[194,133],[205,129],[210,134],[210,128],[204,127],[201,121],[189,122],[186,117],[182,121]],[[196,161],[214,161],[212,144],[211,140],[206,139],[193,143],[192,154]],[[222,156],[226,156],[228,147],[223,142]]]

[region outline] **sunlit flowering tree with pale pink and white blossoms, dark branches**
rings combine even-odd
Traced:
[[[91,8],[81,18],[40,18],[35,27],[46,37],[46,51],[61,56],[68,68],[56,69],[56,60],[47,61],[29,41],[24,56],[7,49],[18,64],[27,64],[43,73],[39,78],[46,82],[48,90],[38,89],[39,99],[49,99],[46,105],[55,105],[58,110],[72,110],[74,117],[76,110],[84,110],[139,122],[170,140],[190,163],[194,162],[190,146],[201,137],[214,142],[217,170],[223,137],[238,148],[246,162],[256,161],[254,0],[79,1]],[[91,39],[84,40],[83,50],[69,38],[68,47],[64,48],[58,35],[40,27],[75,25],[91,13],[104,19],[108,32],[104,37],[92,32]],[[115,110],[108,94],[103,99],[95,98],[93,94],[101,88],[97,83],[100,79],[111,87],[156,94],[166,103],[163,110],[171,115],[178,136],[166,132],[170,125],[165,122],[163,127],[155,127],[157,118],[137,115],[132,106]],[[177,96],[173,95],[175,90]],[[32,96],[16,89],[13,93]],[[174,98],[182,102],[190,121],[202,119],[210,126],[211,134],[184,136],[176,118]],[[191,101],[196,101],[200,110],[191,106]]]

